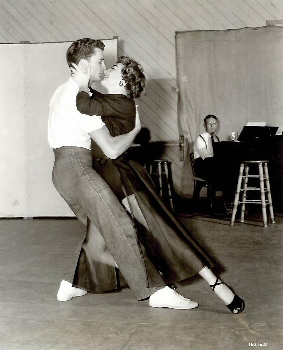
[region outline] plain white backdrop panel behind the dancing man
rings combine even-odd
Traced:
[[[111,67],[118,38],[103,42]],[[70,45],[0,44],[0,217],[74,216],[52,184],[47,141],[49,101],[69,78]]]

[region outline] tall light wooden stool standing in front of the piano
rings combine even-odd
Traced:
[[[239,177],[238,177],[237,189],[236,189],[235,200],[234,200],[234,207],[233,207],[233,212],[232,212],[231,226],[233,226],[235,223],[237,207],[238,207],[238,204],[240,204],[240,203],[242,203],[240,222],[244,222],[246,204],[260,204],[261,203],[264,227],[267,227],[267,214],[266,214],[266,205],[267,204],[269,205],[271,222],[275,223],[273,207],[272,207],[272,198],[271,198],[271,192],[270,192],[267,163],[268,163],[268,160],[244,160],[244,161],[242,161],[242,163],[240,165],[240,170],[239,170]],[[250,164],[258,164],[258,174],[255,174],[255,175],[249,174],[249,165]],[[244,174],[243,174],[243,172],[244,172]],[[248,179],[249,178],[259,178],[259,186],[260,187],[248,187]],[[243,181],[243,183],[242,183],[242,181]],[[247,191],[260,191],[261,199],[246,199]],[[242,192],[242,201],[239,201],[240,192]],[[265,193],[267,193],[267,199],[266,199]]]

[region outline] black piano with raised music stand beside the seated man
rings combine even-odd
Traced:
[[[275,212],[283,212],[283,135],[278,127],[244,126],[238,141],[214,144],[215,164],[235,188],[242,160],[269,160],[268,171]],[[235,184],[236,183],[236,184]]]

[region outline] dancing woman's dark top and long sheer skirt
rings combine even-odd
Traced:
[[[96,100],[97,106],[93,103]],[[95,91],[92,98],[89,98],[87,93],[81,92],[77,96],[77,107],[84,114],[104,113],[102,120],[112,136],[127,133],[134,128],[135,103],[124,95],[102,95]],[[92,155],[95,170],[120,201],[126,197],[124,191],[127,195],[134,193],[147,222],[149,230],[133,220],[140,251],[145,261],[149,287],[187,279],[204,266],[210,268],[214,264],[211,257],[164,204],[143,166],[128,160],[126,155],[111,160],[103,154],[95,142],[92,143]],[[91,291],[117,288],[118,283],[113,280],[114,267],[89,261],[87,251],[90,247],[87,244],[86,238],[73,284]],[[106,270],[103,272],[103,269]],[[109,269],[112,269],[112,273]],[[155,277],[156,271],[161,272],[164,284],[160,283],[160,275]]]

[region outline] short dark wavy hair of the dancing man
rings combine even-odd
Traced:
[[[95,53],[95,48],[104,50],[104,46],[105,45],[101,40],[84,38],[74,41],[66,53],[66,60],[69,67],[71,67],[72,62],[77,65],[81,59],[90,59]]]

